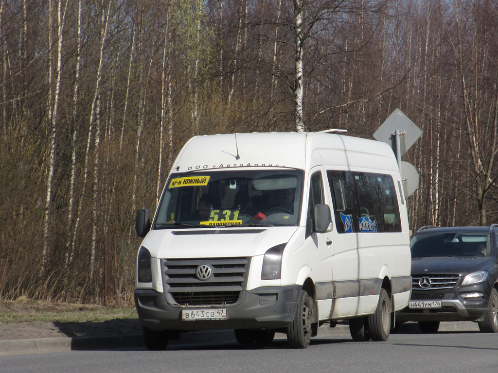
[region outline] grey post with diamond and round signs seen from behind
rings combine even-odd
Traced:
[[[421,135],[422,130],[400,109],[394,110],[373,134],[375,140],[387,143],[396,155],[406,197],[417,189],[419,175],[413,165],[401,161],[401,156]]]

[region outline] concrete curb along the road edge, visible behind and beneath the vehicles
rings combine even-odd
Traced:
[[[440,332],[479,332],[479,326],[474,322],[442,322]],[[420,333],[416,323],[404,323],[399,326],[398,334],[404,332]],[[331,336],[350,336],[348,325],[337,325],[330,328],[327,325],[318,329],[315,338]],[[285,339],[284,334],[277,333],[275,339]],[[222,342],[235,342],[232,330],[198,331],[183,333],[179,340],[170,340],[168,346],[202,345]],[[109,337],[51,337],[37,339],[17,339],[0,341],[0,356],[40,354],[47,352],[65,352],[81,350],[109,350],[119,348],[144,348],[141,334],[118,335]]]

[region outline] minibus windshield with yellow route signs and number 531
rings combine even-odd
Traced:
[[[297,225],[302,180],[297,170],[173,174],[153,228]]]

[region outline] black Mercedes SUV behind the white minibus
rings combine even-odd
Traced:
[[[418,321],[436,333],[440,321],[476,321],[498,332],[498,224],[425,226],[411,237],[412,292],[396,322]]]

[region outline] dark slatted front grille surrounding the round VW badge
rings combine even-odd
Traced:
[[[199,266],[209,266],[212,277],[199,280]],[[162,259],[165,293],[184,306],[233,304],[246,289],[249,258]]]

